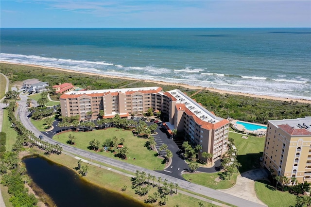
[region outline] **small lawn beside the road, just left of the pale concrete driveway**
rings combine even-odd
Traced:
[[[202,186],[206,186],[211,189],[228,189],[236,184],[238,173],[233,173],[226,177],[224,173],[187,173],[183,174],[183,178],[186,180],[196,183]],[[222,178],[222,179],[220,179]]]

